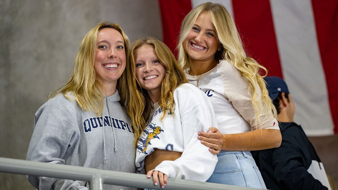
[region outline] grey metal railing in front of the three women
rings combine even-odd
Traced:
[[[90,184],[91,190],[102,190],[103,184],[121,185],[137,188],[159,188],[154,186],[152,179],[147,179],[144,174],[101,170],[62,164],[50,164],[33,162],[19,159],[0,157],[0,172],[16,173],[25,175],[37,175],[55,177],[60,179],[86,181]],[[161,189],[161,188],[159,188]],[[198,182],[182,179],[168,179],[165,190],[257,190],[256,188],[239,187],[207,182]]]

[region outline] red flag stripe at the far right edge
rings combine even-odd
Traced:
[[[312,0],[317,39],[328,87],[331,115],[338,133],[338,1]]]

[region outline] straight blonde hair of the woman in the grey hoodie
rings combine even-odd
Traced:
[[[103,94],[100,88],[103,85],[96,79],[97,74],[94,70],[94,60],[96,52],[96,43],[99,30],[103,28],[113,28],[121,33],[124,40],[126,65],[128,65],[128,57],[130,54],[130,42],[127,35],[123,32],[118,24],[110,22],[100,22],[92,28],[82,39],[74,61],[74,71],[67,84],[50,94],[50,98],[63,94],[67,99],[71,100],[68,92],[72,92],[75,101],[83,111],[93,111],[97,116],[102,114],[104,102]],[[117,89],[121,96],[121,102],[126,99],[126,74],[125,71],[117,81]]]

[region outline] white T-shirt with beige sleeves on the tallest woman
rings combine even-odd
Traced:
[[[261,104],[260,120],[262,126],[256,126],[255,109],[248,93],[249,82],[242,76],[235,66],[226,60],[219,61],[216,67],[202,74],[202,76],[189,75],[185,70],[188,81],[197,85],[211,100],[218,128],[222,134],[244,133],[257,128],[279,129],[277,120],[271,114],[263,114],[267,109],[261,97],[261,88],[256,85],[257,99]]]

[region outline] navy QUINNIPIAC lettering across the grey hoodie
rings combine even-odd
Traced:
[[[129,125],[123,120],[119,120],[110,116],[104,116],[103,122],[104,124],[102,124],[102,117],[91,117],[85,119],[83,121],[84,132],[88,133],[98,127],[111,127],[113,125],[113,127],[116,129],[127,130],[129,133],[134,134],[134,131],[132,131],[132,125]]]

